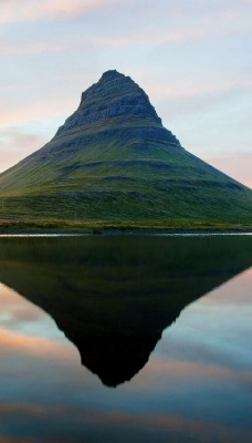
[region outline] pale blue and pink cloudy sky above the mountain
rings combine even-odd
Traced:
[[[252,0],[0,0],[0,172],[116,69],[192,154],[252,187]]]

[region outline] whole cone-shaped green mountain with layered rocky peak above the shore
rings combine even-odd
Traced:
[[[2,215],[251,220],[252,190],[186,151],[117,71],[88,87],[55,136],[0,175]]]

